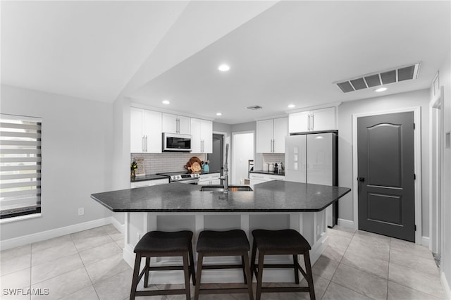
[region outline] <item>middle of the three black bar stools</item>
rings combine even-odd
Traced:
[[[242,230],[214,231],[204,230],[197,239],[197,286],[194,290],[194,300],[199,294],[232,294],[248,293],[249,299],[254,299],[252,292],[252,277],[249,265],[249,240]],[[204,256],[241,256],[240,265],[204,265]],[[201,289],[202,269],[233,269],[241,268],[247,287]]]

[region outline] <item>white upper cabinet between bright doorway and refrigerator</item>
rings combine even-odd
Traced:
[[[285,153],[288,118],[257,121],[257,153]]]

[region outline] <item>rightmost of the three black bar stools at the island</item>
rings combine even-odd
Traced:
[[[261,293],[269,292],[309,292],[310,299],[315,300],[315,290],[313,285],[313,275],[311,273],[310,255],[311,249],[309,242],[302,237],[296,230],[254,230],[252,231],[254,242],[252,244],[251,269],[252,277],[255,273],[257,277],[257,296],[256,300],[260,300]],[[255,265],[255,256],[259,251],[258,266]],[[284,255],[291,254],[293,256],[292,264],[266,264],[264,263],[265,255]],[[304,256],[305,271],[297,262],[297,254]],[[299,272],[302,273],[307,280],[307,287],[261,287],[263,283],[264,268],[293,268],[295,270],[295,282],[299,284]]]

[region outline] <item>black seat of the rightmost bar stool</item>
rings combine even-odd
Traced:
[[[260,251],[276,251],[280,254],[289,252],[289,254],[304,253],[310,250],[311,246],[307,239],[296,230],[263,230],[257,229],[252,231],[254,243]]]

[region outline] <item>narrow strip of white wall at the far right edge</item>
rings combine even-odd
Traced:
[[[443,121],[444,130],[443,135],[446,132],[451,132],[451,56],[448,57],[443,63],[443,67],[440,68],[440,86],[444,86],[444,99],[443,99]],[[444,138],[444,137],[443,137]],[[450,285],[451,285],[451,147],[445,148],[443,143],[443,173],[442,173],[442,197],[443,197],[443,215],[444,224],[443,230],[443,251],[441,253],[440,270],[447,280],[447,296],[451,297]]]

